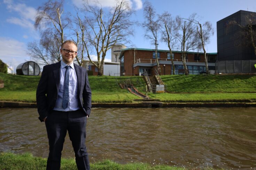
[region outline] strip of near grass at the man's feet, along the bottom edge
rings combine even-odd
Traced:
[[[168,165],[151,166],[146,163],[127,163],[118,164],[116,162],[105,160],[92,163],[91,170],[185,170],[180,167],[170,167]],[[13,154],[0,153],[0,169],[1,170],[45,170],[46,159],[35,157],[30,153]],[[62,170],[76,170],[74,159],[61,159]],[[193,168],[192,168],[193,169]],[[205,168],[211,170],[212,168]]]

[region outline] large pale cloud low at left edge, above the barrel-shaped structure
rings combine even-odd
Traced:
[[[0,59],[16,67],[23,62],[29,61],[30,57],[26,54],[26,44],[14,39],[0,37]]]

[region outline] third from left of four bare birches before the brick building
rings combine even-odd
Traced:
[[[176,17],[176,28],[175,28],[175,37],[180,42],[181,48],[181,59],[183,62],[185,75],[189,75],[188,69],[186,66],[186,56],[187,52],[195,50],[199,47],[199,39],[196,35],[195,23],[195,14],[189,16],[188,19]]]

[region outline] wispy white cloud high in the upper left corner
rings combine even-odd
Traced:
[[[13,2],[12,0],[3,0],[3,3],[7,5],[9,11],[15,11],[20,16],[20,18],[8,18],[7,22],[34,30],[33,23],[37,12],[35,8],[28,7],[24,3]]]

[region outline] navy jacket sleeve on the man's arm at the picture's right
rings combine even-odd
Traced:
[[[91,108],[92,108],[92,91],[90,88],[89,80],[88,80],[88,75],[87,75],[87,70],[85,70],[85,85],[84,85],[84,90],[83,90],[83,108],[86,111],[86,114],[88,117],[90,116],[91,113]]]

